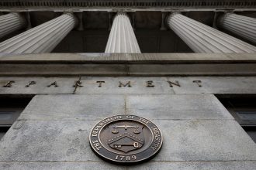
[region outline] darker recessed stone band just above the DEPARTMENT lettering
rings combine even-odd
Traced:
[[[0,76],[256,76],[256,63],[0,64]]]

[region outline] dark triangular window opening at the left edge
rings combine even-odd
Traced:
[[[29,104],[32,97],[2,97],[0,96],[0,139]]]

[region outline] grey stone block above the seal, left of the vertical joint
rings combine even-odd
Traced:
[[[38,95],[33,97],[19,119],[102,120],[125,113],[122,95]]]

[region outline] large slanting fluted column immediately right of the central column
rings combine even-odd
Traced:
[[[256,47],[179,14],[168,16],[168,26],[195,53],[255,53]]]

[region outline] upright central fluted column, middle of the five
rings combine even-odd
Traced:
[[[140,53],[130,19],[125,13],[115,16],[105,53]]]

